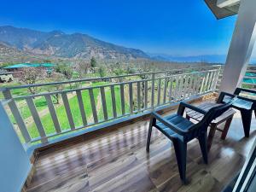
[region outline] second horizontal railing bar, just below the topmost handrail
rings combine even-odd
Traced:
[[[206,70],[206,71],[201,71],[201,72],[192,72],[192,73],[181,73],[181,74],[175,74],[175,75],[172,75],[172,76],[154,78],[154,80],[166,79],[166,78],[176,78],[176,77],[179,77],[179,76],[185,76],[185,75],[189,75],[189,74],[210,73],[210,72],[216,72],[216,71],[218,71],[218,69]],[[100,89],[101,87],[105,88],[105,87],[110,87],[110,86],[115,86],[115,85],[120,85],[120,84],[136,84],[136,83],[150,81],[150,80],[152,80],[152,79],[139,79],[139,80],[133,80],[133,81],[126,81],[126,82],[119,82],[119,83],[112,83],[112,84],[102,84],[102,85],[88,86],[88,87],[69,89],[69,90],[57,90],[57,91],[51,91],[51,92],[48,91],[48,92],[42,92],[42,93],[27,95],[27,96],[15,96],[15,97],[12,97],[12,99],[19,100],[19,99],[26,99],[26,98],[30,98],[30,97],[47,96],[47,95],[55,95],[55,94],[61,94],[61,93],[67,93],[67,92],[74,92],[74,91],[77,91],[77,90]]]

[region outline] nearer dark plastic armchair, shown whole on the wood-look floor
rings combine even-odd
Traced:
[[[160,114],[152,112],[148,128],[147,152],[149,152],[152,127],[154,126],[166,137],[172,140],[180,178],[183,183],[186,183],[187,143],[195,138],[198,139],[203,160],[207,164],[207,127],[212,122],[212,119],[217,118],[228,110],[232,105],[232,102],[233,100],[223,105],[211,108],[208,112],[201,108],[189,105],[186,102],[180,103],[177,113],[166,117],[161,117]],[[191,108],[198,113],[205,114],[205,116],[200,122],[194,124],[189,121],[189,119],[183,117],[185,108]]]

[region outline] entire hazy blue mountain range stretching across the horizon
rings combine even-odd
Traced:
[[[61,31],[40,32],[15,26],[0,26],[0,64],[44,60],[174,61],[224,63],[226,55],[174,56],[125,48],[87,34]],[[256,62],[252,59],[251,62]]]

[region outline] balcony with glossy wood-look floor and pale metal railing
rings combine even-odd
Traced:
[[[174,113],[183,100],[214,102],[222,70],[221,66],[196,67],[2,88],[2,119],[9,116],[32,161],[25,188],[220,191],[240,172],[256,137],[256,121],[251,137],[245,138],[236,114],[227,139],[215,137],[209,165],[203,164],[198,143],[189,143],[187,185],[179,179],[172,143],[160,131],[154,129],[149,154],[145,148],[149,113]],[[250,77],[247,73],[245,79]],[[253,84],[245,81],[242,86]],[[41,90],[37,94],[17,94],[35,87]]]

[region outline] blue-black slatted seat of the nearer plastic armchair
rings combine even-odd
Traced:
[[[179,129],[182,130],[188,130],[191,125],[194,125],[191,121],[189,121],[186,118],[183,118],[183,116],[178,114],[172,114],[164,117],[168,122],[172,123],[173,125],[176,125]],[[166,135],[170,137],[176,137],[177,133],[172,131],[169,127],[166,125],[163,125],[159,121],[156,121],[156,126],[158,126],[162,131],[166,133]]]

